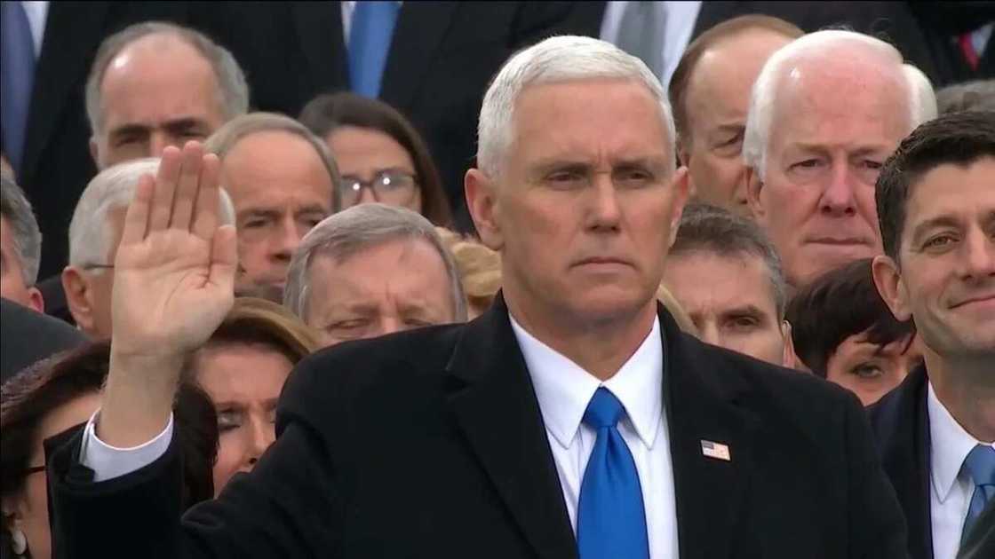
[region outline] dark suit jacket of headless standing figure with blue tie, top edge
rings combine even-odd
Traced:
[[[380,98],[427,140],[458,226],[472,230],[463,176],[477,152],[488,83],[517,49],[554,33],[572,2],[405,2]],[[319,93],[349,89],[339,2],[216,2],[204,29],[246,71],[254,106],[297,116]],[[261,48],[261,41],[265,48]]]

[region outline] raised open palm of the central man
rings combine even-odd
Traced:
[[[197,142],[167,148],[142,177],[114,262],[113,344],[121,354],[186,354],[234,300],[235,231],[219,227],[219,162]]]

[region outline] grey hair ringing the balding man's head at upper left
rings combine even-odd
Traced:
[[[103,95],[100,86],[107,67],[128,45],[151,35],[178,38],[193,47],[211,65],[218,91],[216,101],[221,114],[230,120],[249,110],[249,85],[239,63],[232,53],[211,41],[206,35],[176,24],[148,21],[136,23],[107,37],[100,43],[97,57],[87,77],[87,117],[90,129],[96,135],[103,129]]]

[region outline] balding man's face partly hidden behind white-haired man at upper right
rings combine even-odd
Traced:
[[[688,84],[688,129],[681,142],[681,161],[688,166],[697,200],[750,216],[740,155],[750,89],[770,55],[790,41],[780,33],[753,29],[701,55]]]

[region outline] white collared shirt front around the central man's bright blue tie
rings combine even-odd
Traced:
[[[604,386],[625,407],[618,430],[639,472],[650,557],[677,558],[677,503],[670,436],[664,417],[664,349],[659,318],[654,320],[653,329],[636,353],[615,376],[604,382],[537,340],[513,317],[511,328],[532,378],[574,533],[580,484],[597,439],[597,433],[581,419],[594,392]]]

